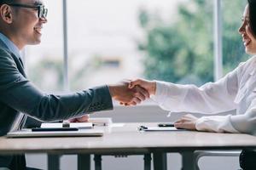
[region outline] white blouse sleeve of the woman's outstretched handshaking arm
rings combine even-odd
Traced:
[[[238,66],[218,82],[209,82],[200,88],[171,82],[156,82],[156,93],[151,98],[166,111],[215,114],[236,109]]]

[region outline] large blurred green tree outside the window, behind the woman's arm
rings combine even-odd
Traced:
[[[223,1],[224,71],[242,59],[242,44],[236,30],[240,26],[243,1]],[[241,11],[236,14],[233,11]],[[138,48],[145,54],[145,77],[169,82],[201,84],[213,81],[213,4],[190,0],[180,3],[172,22],[143,9],[139,21],[145,40]]]

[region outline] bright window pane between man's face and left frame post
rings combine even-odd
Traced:
[[[42,30],[40,45],[26,47],[26,72],[38,88],[55,92],[63,89],[62,1],[44,3],[49,8],[48,23]]]

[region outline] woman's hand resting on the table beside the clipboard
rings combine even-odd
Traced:
[[[180,119],[177,120],[177,122],[174,122],[174,126],[177,128],[184,128],[189,130],[196,130],[195,128],[195,122],[198,118],[193,115],[185,115],[182,116]]]

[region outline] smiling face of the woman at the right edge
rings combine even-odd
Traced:
[[[256,54],[256,38],[253,37],[253,31],[250,26],[248,5],[244,9],[241,21],[242,24],[238,31],[241,34],[245,51],[247,54]]]

